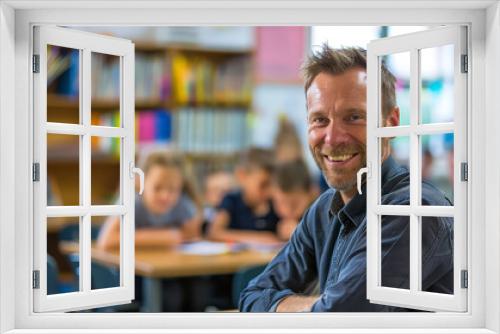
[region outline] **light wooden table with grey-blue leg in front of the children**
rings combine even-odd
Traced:
[[[75,243],[61,243],[64,253],[78,252]],[[176,249],[136,248],[135,273],[143,276],[143,312],[161,312],[162,279],[230,274],[241,268],[269,263],[277,251],[252,249],[220,255],[190,255]],[[92,260],[107,266],[118,267],[118,251],[105,251],[92,247]]]

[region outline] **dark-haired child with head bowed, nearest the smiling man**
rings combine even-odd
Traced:
[[[273,175],[273,205],[280,217],[277,234],[290,239],[304,211],[318,195],[302,159],[278,164]]]

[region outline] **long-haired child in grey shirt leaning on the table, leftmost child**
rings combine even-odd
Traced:
[[[144,163],[144,193],[135,197],[136,246],[172,247],[199,238],[202,213],[180,155],[154,152]],[[108,220],[97,245],[112,249],[120,244],[120,220]]]

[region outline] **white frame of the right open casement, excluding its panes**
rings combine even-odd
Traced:
[[[446,26],[411,34],[381,38],[367,48],[367,298],[377,304],[414,307],[425,311],[467,310],[467,289],[461,286],[467,270],[467,181],[461,180],[461,163],[467,163],[467,77],[462,73],[462,55],[467,55],[467,28]],[[420,50],[453,46],[453,120],[422,124],[420,121]],[[382,122],[381,64],[383,56],[406,52],[410,60],[410,124],[386,127]],[[454,138],[453,205],[424,206],[422,200],[422,154],[420,136],[452,133]],[[410,140],[410,201],[408,205],[380,203],[382,172],[381,142],[384,138],[406,136]],[[382,286],[382,216],[409,219],[409,289]],[[422,217],[453,218],[453,293],[422,291]]]

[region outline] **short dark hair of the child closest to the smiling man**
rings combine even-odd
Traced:
[[[309,170],[301,159],[278,164],[274,170],[274,182],[285,193],[310,191],[313,185]]]

